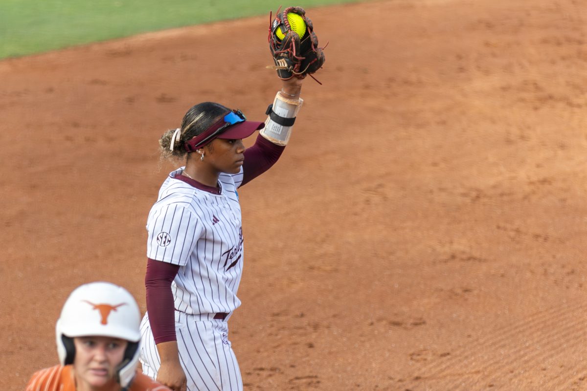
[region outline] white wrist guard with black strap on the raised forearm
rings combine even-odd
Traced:
[[[303,99],[288,99],[277,93],[273,104],[270,104],[265,114],[265,127],[259,134],[277,145],[287,145],[291,128],[294,126],[296,115],[302,107]]]

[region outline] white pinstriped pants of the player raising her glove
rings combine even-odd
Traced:
[[[175,312],[177,348],[188,391],[242,391],[241,371],[228,341],[227,319],[212,319],[214,314]],[[143,373],[156,379],[161,359],[148,313],[141,321],[140,362]]]

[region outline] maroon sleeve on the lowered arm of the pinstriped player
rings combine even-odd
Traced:
[[[178,265],[147,259],[147,312],[156,344],[177,341],[171,282],[176,278],[178,270]]]

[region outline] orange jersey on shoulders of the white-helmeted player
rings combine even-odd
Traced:
[[[112,391],[119,389],[120,386]],[[35,372],[26,385],[26,391],[75,391],[72,366],[56,365]],[[170,389],[137,371],[130,383],[129,391],[170,391]]]

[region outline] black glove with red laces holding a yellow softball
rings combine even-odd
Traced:
[[[289,80],[294,76],[303,79],[320,69],[326,60],[323,48],[318,47],[312,21],[301,7],[278,10],[269,25],[268,40],[275,62],[275,66],[268,68],[276,69],[279,79]]]

